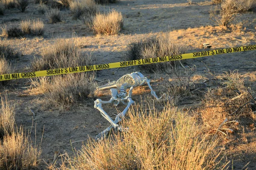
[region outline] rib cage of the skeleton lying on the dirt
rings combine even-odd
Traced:
[[[124,88],[141,86],[146,82],[147,78],[143,76],[140,72],[134,72],[131,74],[125,74],[120,79],[116,81],[116,88],[120,90],[123,85]]]

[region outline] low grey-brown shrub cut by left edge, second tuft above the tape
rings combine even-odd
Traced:
[[[12,60],[20,55],[21,53],[13,49],[6,40],[0,40],[0,58]]]

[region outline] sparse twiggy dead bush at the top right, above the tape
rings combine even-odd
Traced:
[[[209,19],[219,26],[227,26],[232,22],[240,11],[244,10],[244,5],[237,0],[223,0],[218,14],[218,7],[209,11]]]

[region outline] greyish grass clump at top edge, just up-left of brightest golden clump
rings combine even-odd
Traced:
[[[98,12],[98,6],[94,0],[77,0],[70,3],[70,11],[75,19],[82,15],[90,17]]]

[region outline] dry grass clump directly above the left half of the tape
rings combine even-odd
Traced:
[[[34,71],[91,64],[89,54],[82,54],[78,47],[64,39],[55,40],[51,46],[43,48],[41,58],[35,58],[31,63]]]

